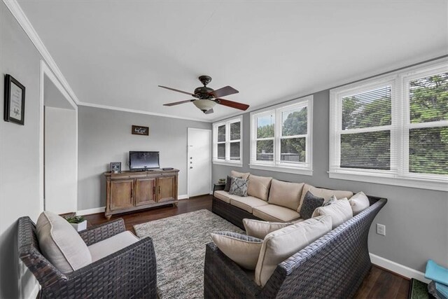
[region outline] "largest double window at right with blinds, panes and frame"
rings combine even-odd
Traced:
[[[448,64],[330,90],[330,177],[448,190]]]

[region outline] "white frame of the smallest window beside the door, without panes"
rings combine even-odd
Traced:
[[[239,122],[239,139],[230,140],[230,125]],[[225,141],[218,142],[218,127],[225,125]],[[239,160],[230,160],[230,144],[239,142]],[[218,159],[218,144],[225,144],[225,160]],[[213,124],[213,164],[231,165],[234,167],[243,166],[243,116],[223,120]]]

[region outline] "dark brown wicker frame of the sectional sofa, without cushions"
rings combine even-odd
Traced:
[[[367,197],[370,207],[284,260],[263,287],[214,243],[207,244],[204,297],[351,298],[372,266],[367,237],[374,217],[387,202]],[[213,211],[241,228],[243,218],[259,219],[216,197]]]

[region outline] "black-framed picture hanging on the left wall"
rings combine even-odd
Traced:
[[[5,76],[4,120],[25,125],[25,86],[13,76]]]

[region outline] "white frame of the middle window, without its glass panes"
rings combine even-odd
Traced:
[[[307,107],[307,134],[288,136],[286,138],[305,137],[305,162],[286,162],[281,161],[280,145],[281,139],[281,113],[283,111],[299,109]],[[274,138],[257,138],[257,119],[258,117],[266,115],[274,115]],[[249,167],[251,169],[270,170],[274,172],[286,172],[291,174],[303,174],[307,176],[313,175],[312,167],[312,130],[313,130],[313,96],[302,97],[286,104],[279,104],[259,111],[251,112],[251,162]],[[274,140],[274,160],[273,161],[258,161],[257,157],[257,140],[273,139]]]

